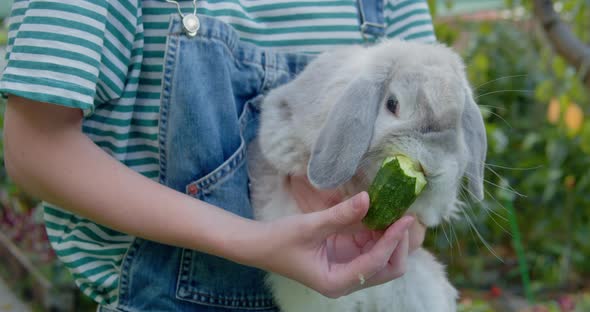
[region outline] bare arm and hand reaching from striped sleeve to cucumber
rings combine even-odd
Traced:
[[[248,220],[125,167],[84,135],[81,124],[78,109],[10,96],[4,132],[10,176],[32,195],[107,227],[274,271],[329,296],[403,273],[409,217],[380,237],[359,242],[349,235],[358,255],[330,262],[330,253],[346,251],[328,246],[327,238],[360,224],[365,193],[320,212],[272,223]],[[359,276],[367,281],[362,286]]]

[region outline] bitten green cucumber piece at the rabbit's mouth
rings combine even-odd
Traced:
[[[399,219],[426,185],[420,165],[397,155],[383,161],[369,186],[370,205],[363,223],[373,230],[384,230]]]

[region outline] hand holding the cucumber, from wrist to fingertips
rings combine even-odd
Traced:
[[[414,217],[385,232],[364,228],[367,193],[332,208],[269,224],[268,254],[258,264],[336,298],[402,276]]]

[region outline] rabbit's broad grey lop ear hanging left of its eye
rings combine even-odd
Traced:
[[[307,167],[315,187],[334,188],[355,174],[369,148],[383,93],[383,82],[375,80],[355,78],[332,107]]]

